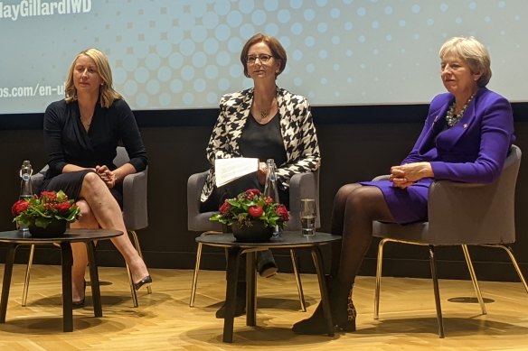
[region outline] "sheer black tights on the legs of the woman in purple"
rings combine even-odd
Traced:
[[[394,222],[382,190],[361,184],[346,184],[337,191],[331,232],[343,236],[333,247],[332,275],[339,289],[348,294],[372,242],[372,220]],[[339,261],[337,261],[339,257]]]

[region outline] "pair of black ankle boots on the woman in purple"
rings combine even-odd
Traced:
[[[331,290],[331,284],[328,284],[329,290]],[[335,291],[335,289],[332,289]],[[352,301],[352,290],[348,293],[346,302],[346,313],[344,313],[344,306],[332,305],[332,302],[339,301],[335,299],[335,293],[329,293],[330,296],[330,308],[332,311],[332,319],[334,319],[334,327],[340,331],[355,331],[355,318],[357,311]],[[325,319],[325,311],[323,309],[323,303],[319,302],[316,311],[312,317],[303,319],[293,325],[293,332],[302,335],[318,335],[328,333],[328,326]]]

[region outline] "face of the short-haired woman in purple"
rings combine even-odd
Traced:
[[[455,53],[448,52],[442,59],[440,67],[444,87],[455,97],[468,93],[471,95],[478,89],[476,80],[481,74],[471,72],[467,62]]]

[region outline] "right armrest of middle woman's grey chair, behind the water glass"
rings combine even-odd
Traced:
[[[321,226],[319,211],[319,171],[297,173],[289,180],[289,221],[288,230],[300,229],[300,202],[301,199],[316,199],[317,219],[316,227]]]

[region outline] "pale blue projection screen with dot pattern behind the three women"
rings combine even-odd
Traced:
[[[526,101],[523,0],[4,0],[0,114],[63,97],[77,52],[97,47],[133,109],[217,107],[252,86],[240,50],[255,32],[288,52],[282,88],[313,106],[427,103],[444,88],[438,49],[474,35],[492,57],[489,88]]]

